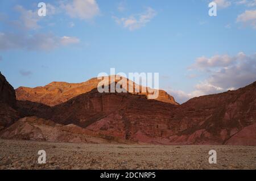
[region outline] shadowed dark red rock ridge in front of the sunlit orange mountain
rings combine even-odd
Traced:
[[[41,117],[62,127],[73,124],[76,128],[72,133],[89,132],[105,140],[164,145],[256,145],[256,82],[236,91],[193,98],[181,105],[149,100],[147,95],[101,94],[95,88],[53,107],[19,100],[16,109],[11,109],[7,107],[4,115],[18,112],[20,117]],[[4,130],[5,137],[12,138],[13,133],[18,133],[18,126],[12,129]],[[28,129],[28,133],[35,130]],[[63,141],[67,141],[65,137]]]

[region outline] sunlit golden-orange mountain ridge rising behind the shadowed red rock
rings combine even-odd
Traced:
[[[148,90],[148,87],[139,86],[136,83],[130,81],[129,79],[119,77],[118,75],[116,75],[118,77],[114,77],[114,79],[112,79],[112,76],[108,77],[109,81],[107,85],[110,85],[113,82],[118,82],[122,79],[126,79],[127,85],[129,82],[131,82],[131,85],[133,85],[133,92],[131,92],[132,94],[146,95],[148,98],[148,95],[150,93],[148,91],[142,91],[143,88],[146,88]],[[52,82],[44,87],[19,87],[18,89],[16,89],[16,99],[43,103],[48,106],[56,106],[57,104],[64,103],[77,95],[84,94],[97,88],[100,81],[100,79],[92,78],[89,81],[82,83]],[[135,92],[135,85],[139,87],[138,93]],[[128,91],[129,86],[127,86],[126,88],[126,91]],[[175,105],[178,104],[175,102],[175,99],[171,95],[167,94],[167,92],[163,90],[159,90],[159,96],[156,100]]]

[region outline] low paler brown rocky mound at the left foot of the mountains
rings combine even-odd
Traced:
[[[38,117],[19,119],[2,132],[1,138],[49,142],[84,142],[91,144],[109,142],[103,138],[94,137],[92,132],[77,127],[74,124],[61,125]]]

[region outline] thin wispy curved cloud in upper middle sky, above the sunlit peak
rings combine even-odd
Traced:
[[[115,22],[121,24],[124,28],[128,28],[130,31],[144,27],[154,16],[156,11],[151,7],[147,7],[146,12],[138,15],[131,15],[129,18],[117,18],[113,16]]]

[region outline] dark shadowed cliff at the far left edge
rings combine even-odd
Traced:
[[[16,99],[13,86],[0,73],[0,131],[18,119],[19,114],[15,107]]]

